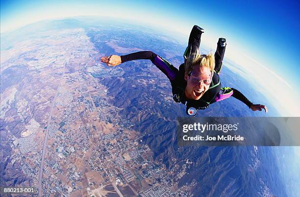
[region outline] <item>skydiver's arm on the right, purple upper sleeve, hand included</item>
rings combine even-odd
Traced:
[[[249,99],[244,94],[242,94],[242,92],[240,92],[239,90],[237,90],[235,88],[227,88],[227,87],[221,88],[221,91],[217,94],[217,96],[215,98],[215,102],[222,101],[226,98],[229,98],[230,96],[233,96],[234,98],[245,103],[250,109],[252,109],[252,111],[256,111],[256,110],[261,111],[262,109],[264,109],[266,111],[266,113],[268,112],[268,109],[266,106],[261,105],[261,104],[251,103],[249,101]]]

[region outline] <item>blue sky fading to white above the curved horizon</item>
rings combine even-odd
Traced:
[[[274,80],[274,86],[281,86],[279,89],[288,88],[286,97],[299,97],[299,10],[299,0],[1,0],[0,22],[1,32],[5,32],[45,19],[102,15],[136,19],[144,25],[160,25],[184,34],[198,24],[205,29],[204,44],[214,44],[211,47],[215,48],[218,37],[225,37],[227,57],[257,70],[257,77],[266,78],[270,84]],[[275,77],[264,77],[268,70]]]

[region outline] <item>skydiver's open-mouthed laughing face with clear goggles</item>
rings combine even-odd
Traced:
[[[188,99],[199,100],[210,86],[212,73],[208,67],[195,65],[191,75],[185,74],[184,79],[187,81],[185,96]]]

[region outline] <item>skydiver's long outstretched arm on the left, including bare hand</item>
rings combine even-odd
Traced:
[[[151,60],[151,62],[158,67],[170,80],[174,80],[178,74],[178,69],[171,65],[168,61],[159,57],[152,51],[139,51],[128,55],[111,55],[102,57],[101,61],[106,63],[107,66],[117,66],[132,60]]]

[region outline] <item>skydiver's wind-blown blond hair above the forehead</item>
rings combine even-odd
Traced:
[[[193,71],[193,67],[200,65],[200,68],[208,67],[209,70],[214,73],[215,69],[215,57],[212,52],[208,55],[200,55],[198,53],[191,54],[185,62],[185,74],[190,75]]]

